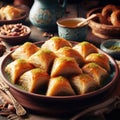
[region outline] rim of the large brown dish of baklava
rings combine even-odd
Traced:
[[[41,42],[37,42],[37,44],[39,44]],[[42,42],[43,43],[43,42]],[[12,83],[10,83],[4,76],[4,62],[10,57],[11,52],[7,53],[3,59],[1,60],[1,64],[0,64],[0,74],[1,74],[1,77],[2,79],[10,86],[12,87],[14,90],[16,91],[19,91],[23,94],[26,94],[26,95],[30,95],[30,96],[33,96],[33,97],[40,97],[41,99],[49,99],[49,100],[72,100],[72,99],[84,99],[84,98],[89,98],[89,97],[93,97],[95,95],[99,95],[103,92],[105,92],[106,90],[110,89],[111,87],[114,86],[114,84],[116,83],[116,81],[118,80],[119,78],[119,68],[118,68],[118,65],[117,65],[117,62],[110,56],[108,55],[107,53],[103,52],[102,50],[98,49],[100,51],[100,53],[103,53],[105,55],[108,56],[109,60],[112,62],[112,64],[114,65],[115,67],[115,75],[113,76],[112,80],[107,83],[105,86],[101,87],[100,89],[96,90],[96,91],[93,91],[93,92],[89,92],[89,93],[86,93],[84,95],[73,95],[73,96],[46,96],[46,95],[41,95],[41,94],[36,94],[36,93],[29,93],[25,90],[22,90],[18,87],[15,87],[15,85],[13,85]]]

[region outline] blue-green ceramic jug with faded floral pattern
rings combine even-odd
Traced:
[[[64,15],[66,5],[67,0],[34,0],[29,20],[44,31],[55,30],[56,21]]]

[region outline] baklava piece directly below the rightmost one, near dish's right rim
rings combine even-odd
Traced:
[[[87,63],[82,67],[84,73],[91,75],[99,86],[106,83],[108,72],[96,63]]]

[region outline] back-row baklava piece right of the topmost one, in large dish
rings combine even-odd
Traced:
[[[73,49],[78,51],[83,58],[91,53],[98,53],[97,47],[87,41],[78,43],[73,47]]]

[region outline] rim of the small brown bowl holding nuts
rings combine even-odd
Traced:
[[[10,24],[6,24],[6,25],[10,25]],[[28,27],[26,25],[23,25],[23,24],[22,24],[22,26],[25,27],[25,28],[27,28],[27,33],[25,35],[23,35],[23,36],[7,36],[7,35],[0,34],[0,38],[3,38],[3,39],[12,39],[12,38],[22,38],[22,37],[30,35],[31,34],[30,27]],[[0,27],[2,27],[2,26],[0,26]]]

